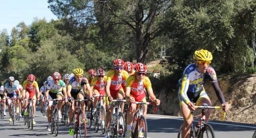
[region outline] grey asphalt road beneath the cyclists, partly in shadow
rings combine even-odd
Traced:
[[[20,121],[16,121],[12,125],[8,119],[9,114],[5,116],[4,120],[0,120],[0,137],[54,137],[46,130],[47,118],[42,117],[42,114],[37,109],[36,111],[36,125],[33,130],[27,128],[23,123],[23,118]],[[174,116],[161,116],[155,114],[148,114],[147,126],[148,126],[148,137],[150,138],[168,138],[177,137],[178,129],[182,123],[182,118]],[[232,137],[232,138],[251,138],[254,131],[256,130],[256,124],[243,124],[243,123],[232,123],[232,122],[218,122],[210,121],[210,125],[215,130],[215,135],[218,138]],[[87,129],[87,137],[96,138],[104,137],[100,133],[100,130],[95,133],[92,128]],[[68,133],[68,127],[60,124],[59,133],[56,137],[73,137]]]

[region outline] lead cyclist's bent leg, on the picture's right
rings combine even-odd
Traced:
[[[199,96],[199,99],[197,100],[196,105],[200,106],[200,105],[202,105],[204,103],[206,103],[208,106],[211,106],[210,98],[208,97],[206,92],[203,90],[200,93],[200,96]],[[208,110],[205,111],[205,122],[208,122],[210,114],[211,114],[211,111],[212,111],[211,109],[208,109]]]

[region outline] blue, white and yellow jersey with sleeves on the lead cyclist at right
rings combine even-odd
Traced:
[[[191,93],[194,93],[194,95],[201,95],[201,92],[204,91],[203,84],[206,78],[210,79],[221,103],[225,103],[214,68],[209,65],[206,73],[202,74],[198,71],[195,63],[189,64],[185,68],[183,76],[179,80],[179,98],[188,104],[190,102],[189,99],[191,99],[191,96],[193,95]]]

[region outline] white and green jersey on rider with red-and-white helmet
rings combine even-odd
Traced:
[[[49,89],[51,93],[55,93],[55,94],[56,93],[61,93],[62,88],[66,89],[66,84],[62,80],[59,80],[58,84],[55,84],[54,80],[51,80],[51,81],[49,81],[49,83],[46,86],[47,90]]]

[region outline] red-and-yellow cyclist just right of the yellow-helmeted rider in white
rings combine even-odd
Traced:
[[[105,95],[105,85],[106,85],[106,76],[105,76],[105,71],[102,68],[99,68],[96,72],[97,76],[93,78],[92,83],[91,83],[91,89],[93,90],[93,93],[95,95]],[[98,103],[99,97],[94,98],[94,103],[93,103],[93,114],[96,111],[96,105]],[[103,98],[103,107],[105,110],[105,102]]]

